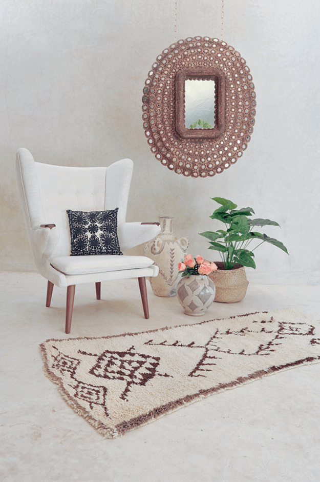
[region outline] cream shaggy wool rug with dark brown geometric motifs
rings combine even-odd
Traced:
[[[320,360],[320,327],[289,310],[40,345],[62,397],[107,438],[264,375]]]

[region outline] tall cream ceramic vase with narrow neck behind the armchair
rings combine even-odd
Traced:
[[[173,217],[159,217],[160,233],[146,243],[144,253],[153,259],[159,267],[157,277],[150,278],[152,290],[156,296],[176,296],[180,279],[178,263],[180,263],[189,246],[185,237],[177,236],[173,232]]]

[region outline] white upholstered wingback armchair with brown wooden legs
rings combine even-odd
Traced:
[[[122,159],[109,167],[62,167],[35,163],[31,153],[16,154],[16,177],[29,242],[39,273],[48,280],[46,306],[53,286],[67,288],[66,333],[70,333],[75,285],[95,283],[100,299],[102,281],[138,278],[145,318],[149,317],[145,277],[157,276],[159,268],[146,256],[70,255],[67,210],[118,209],[121,251],[145,243],[160,231],[157,224],[126,223],[133,162]]]

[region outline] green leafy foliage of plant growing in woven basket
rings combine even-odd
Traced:
[[[221,207],[216,209],[210,218],[224,223],[226,229],[219,229],[215,232],[205,231],[199,234],[209,239],[209,249],[220,252],[225,270],[232,269],[236,263],[255,268],[253,251],[263,243],[270,243],[288,254],[287,248],[280,241],[254,230],[256,226],[280,227],[278,223],[270,219],[251,219],[250,216],[254,214],[252,208],[237,210],[237,204],[232,203],[229,199],[223,197],[212,197],[211,199]],[[248,246],[255,240],[260,243],[250,251]]]

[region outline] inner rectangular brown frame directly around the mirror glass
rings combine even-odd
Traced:
[[[187,128],[185,126],[185,81],[215,81],[215,127],[212,129]],[[183,139],[216,139],[225,130],[225,75],[218,69],[193,67],[179,70],[175,83],[176,131]]]

